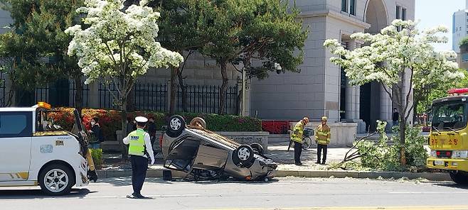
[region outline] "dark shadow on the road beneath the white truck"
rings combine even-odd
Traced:
[[[41,189],[1,189],[1,199],[50,199],[50,198],[84,198],[92,194],[89,189],[72,189],[70,194],[64,196],[48,196]]]

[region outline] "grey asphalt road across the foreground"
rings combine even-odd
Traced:
[[[468,209],[468,187],[452,182],[285,177],[271,182],[164,182],[147,179],[127,199],[131,179],[100,180],[65,197],[37,188],[0,188],[0,209]]]

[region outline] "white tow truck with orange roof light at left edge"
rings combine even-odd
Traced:
[[[48,121],[50,104],[0,108],[0,187],[40,186],[45,194],[68,194],[96,181],[87,136],[75,110],[75,134]]]

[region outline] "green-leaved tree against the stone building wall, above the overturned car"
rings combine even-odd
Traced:
[[[307,31],[297,21],[299,12],[287,3],[275,0],[224,0],[213,1],[211,9],[203,13],[209,41],[201,52],[216,59],[220,65],[223,84],[220,89],[219,114],[225,113],[225,92],[228,88],[229,63],[243,63],[252,69],[252,60],[262,62],[262,67],[252,75],[263,79],[275,70],[275,63],[282,71],[299,72],[302,63]]]

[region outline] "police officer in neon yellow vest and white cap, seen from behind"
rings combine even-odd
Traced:
[[[153,165],[154,154],[151,149],[149,133],[143,130],[148,119],[144,116],[137,116],[135,121],[137,122],[137,130],[129,133],[129,135],[123,140],[124,144],[129,145],[128,154],[132,161],[133,193],[131,195],[127,195],[127,198],[145,199],[147,197],[142,196],[141,191],[144,179],[147,176],[148,157],[151,158],[151,165]]]

